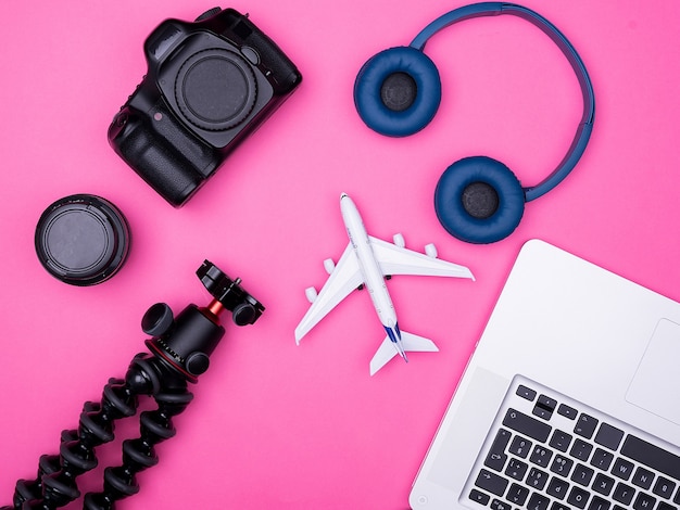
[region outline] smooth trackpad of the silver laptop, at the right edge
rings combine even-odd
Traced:
[[[680,326],[659,320],[630,383],[626,399],[680,424]]]

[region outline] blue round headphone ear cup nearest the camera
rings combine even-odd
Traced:
[[[390,89],[388,78],[399,87]],[[405,87],[407,85],[407,87]],[[398,107],[388,106],[390,99]],[[432,119],[441,101],[435,63],[420,50],[383,50],[364,64],[354,82],[354,105],[366,126],[389,137],[413,135]],[[406,106],[404,107],[404,103]]]

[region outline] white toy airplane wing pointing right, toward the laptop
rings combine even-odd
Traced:
[[[369,235],[373,253],[380,265],[382,275],[417,275],[431,277],[469,278],[475,280],[465,266],[433,258],[396,244],[388,243]]]

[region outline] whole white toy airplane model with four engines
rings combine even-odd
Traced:
[[[330,277],[322,291],[318,294],[314,288],[308,288],[305,291],[312,306],[295,328],[298,345],[300,345],[300,340],[338,303],[353,290],[364,285],[370,295],[378,318],[387,331],[385,341],[370,360],[372,375],[396,354],[408,361],[407,352],[439,350],[431,340],[400,331],[394,305],[392,305],[385,282],[386,277],[418,275],[475,280],[470,270],[464,266],[439,260],[433,244],[425,246],[427,254],[425,255],[406,250],[404,238],[401,234],[394,235],[394,244],[368,235],[356,205],[345,193],[340,195],[340,211],[350,237],[350,244],[348,244],[337,266],[331,259],[324,260],[324,266]]]

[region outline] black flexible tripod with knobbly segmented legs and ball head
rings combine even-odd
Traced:
[[[111,379],[99,404],[85,404],[77,430],[61,435],[59,455],[43,455],[35,480],[16,482],[12,509],[51,510],[76,500],[80,493],[76,477],[97,467],[95,448],[113,441],[114,422],[136,413],[139,395],[149,395],[158,409],[143,411],[140,436],[123,442],[123,463],[104,470],[101,493],[88,493],[84,509],[113,509],[115,501],[137,494],[136,473],[158,463],[154,445],[175,435],[173,417],[189,405],[193,395],[187,383],[196,383],[207,370],[210,356],[224,336],[219,315],[231,311],[238,326],[254,323],[264,307],[215,265],[205,260],[197,276],[213,296],[206,307],[193,304],[176,317],[165,303],[144,314],[141,327],[151,335],[150,353],[135,356],[125,379]]]

